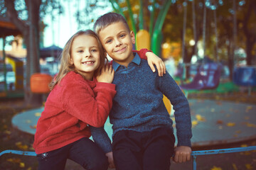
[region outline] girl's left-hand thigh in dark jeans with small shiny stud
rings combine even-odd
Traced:
[[[38,154],[38,170],[63,170],[68,158],[68,147]]]

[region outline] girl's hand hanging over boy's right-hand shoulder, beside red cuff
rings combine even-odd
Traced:
[[[146,57],[152,72],[156,72],[154,67],[154,65],[156,65],[156,69],[159,72],[159,77],[162,77],[163,74],[166,74],[166,67],[163,60],[161,60],[161,58],[159,58],[153,52],[146,52]]]

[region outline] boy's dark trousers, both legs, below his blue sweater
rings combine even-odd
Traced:
[[[175,137],[171,129],[151,132],[121,130],[114,135],[113,157],[117,170],[169,170]]]

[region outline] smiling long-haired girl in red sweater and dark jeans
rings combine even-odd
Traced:
[[[37,123],[33,147],[38,169],[65,169],[67,159],[85,169],[108,168],[104,152],[89,139],[89,125],[104,125],[116,93],[114,71],[105,60],[92,30],[78,31],[66,43]]]

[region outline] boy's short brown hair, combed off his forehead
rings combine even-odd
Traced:
[[[119,23],[122,22],[127,27],[128,31],[130,32],[129,26],[127,21],[125,20],[124,16],[119,13],[105,13],[103,16],[97,18],[93,26],[93,30],[95,33],[99,34],[101,30],[110,26],[112,23]]]

